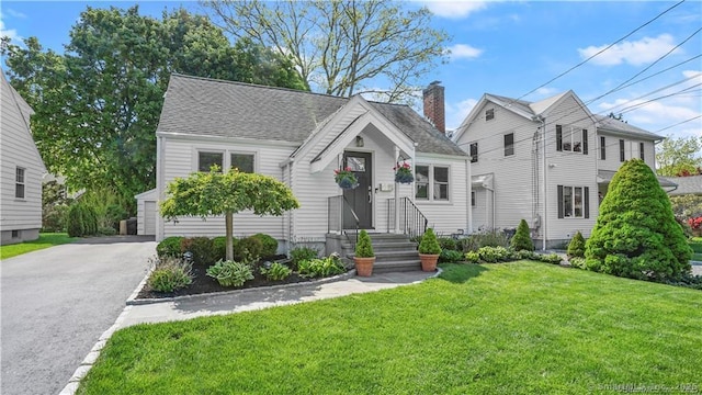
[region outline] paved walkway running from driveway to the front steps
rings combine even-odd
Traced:
[[[249,289],[223,295],[193,295],[174,301],[145,305],[129,305],[116,323],[115,329],[143,323],[163,323],[195,317],[256,311],[302,302],[339,297],[355,293],[386,290],[423,281],[435,272],[401,272],[374,274],[370,278],[350,276],[327,283],[305,283],[274,290]]]

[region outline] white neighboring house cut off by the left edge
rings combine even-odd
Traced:
[[[0,244],[7,245],[39,237],[46,168],[30,129],[34,112],[0,72]]]

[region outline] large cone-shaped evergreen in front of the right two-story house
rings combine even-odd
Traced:
[[[612,178],[585,257],[590,270],[639,280],[678,279],[690,271],[692,250],[643,160],[626,161]]]

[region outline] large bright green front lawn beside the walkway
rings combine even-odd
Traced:
[[[526,261],[443,268],[417,285],[120,330],[78,394],[702,390],[700,291]]]

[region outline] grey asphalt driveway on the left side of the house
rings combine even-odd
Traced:
[[[91,238],[0,262],[0,394],[58,394],[114,324],[152,238]]]

